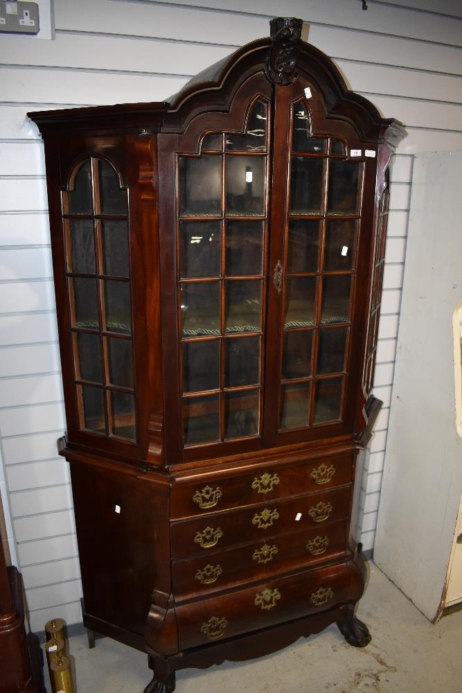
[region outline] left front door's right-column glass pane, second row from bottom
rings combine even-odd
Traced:
[[[231,338],[224,345],[224,386],[260,383],[260,337]]]

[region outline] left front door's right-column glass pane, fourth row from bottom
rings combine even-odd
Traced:
[[[263,221],[226,222],[226,274],[228,277],[262,274]]]

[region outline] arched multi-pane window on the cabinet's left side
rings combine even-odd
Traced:
[[[104,159],[62,193],[80,430],[136,440],[127,190]]]

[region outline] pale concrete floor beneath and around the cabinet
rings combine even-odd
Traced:
[[[368,647],[350,647],[330,626],[265,658],[178,672],[177,693],[462,693],[462,612],[433,625],[369,567],[357,612],[371,630]],[[69,653],[78,693],[142,693],[150,681],[145,655],[109,638],[89,650],[75,636]]]

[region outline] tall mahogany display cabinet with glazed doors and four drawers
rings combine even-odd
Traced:
[[[165,102],[30,114],[84,623],[148,653],[150,692],[332,622],[370,639],[355,467],[404,130],[301,25]]]

